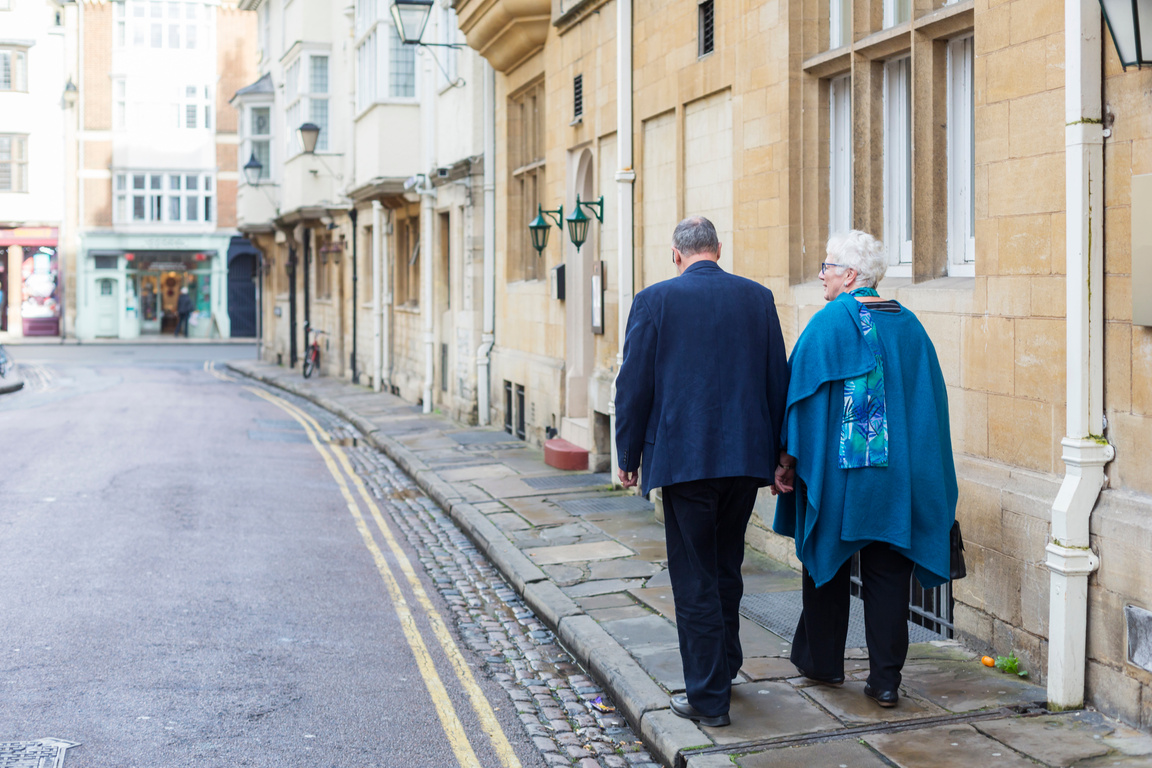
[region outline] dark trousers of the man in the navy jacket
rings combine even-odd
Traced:
[[[718,478],[664,488],[668,576],[688,702],[704,715],[728,712],[732,678],[744,663],[740,599],[744,530],[756,504],[755,478]]]

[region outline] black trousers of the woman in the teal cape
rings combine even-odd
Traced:
[[[844,675],[851,561],[821,587],[804,569],[804,610],[793,639],[791,662],[813,677]],[[880,691],[900,687],[908,657],[908,585],[912,561],[888,545],[873,541],[861,549],[864,590],[864,636],[869,684]]]

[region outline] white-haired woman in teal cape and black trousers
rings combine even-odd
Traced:
[[[773,529],[796,540],[804,609],[791,661],[818,683],[844,679],[851,556],[861,554],[869,677],[881,707],[900,698],[909,579],[948,580],[956,471],[935,349],[910,311],[880,297],[884,246],[833,236],[827,305],[793,350]],[[795,486],[795,487],[794,487]]]

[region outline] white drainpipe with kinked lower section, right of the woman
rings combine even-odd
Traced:
[[[1064,0],[1067,466],[1052,504],[1048,708],[1084,706],[1087,577],[1099,565],[1089,518],[1115,450],[1104,434],[1104,130],[1100,6]]]

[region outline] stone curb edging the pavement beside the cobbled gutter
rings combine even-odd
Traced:
[[[699,727],[677,717],[668,709],[668,694],[615,638],[586,615],[492,520],[464,501],[455,488],[414,451],[380,434],[379,427],[327,397],[309,393],[298,385],[248,371],[243,362],[229,362],[226,365],[242,377],[303,397],[349,421],[369,444],[411,476],[416,485],[447,511],[477,548],[492,561],[528,607],[548,625],[561,645],[600,680],[652,756],[666,766],[674,766],[681,750],[711,744],[711,739]]]

